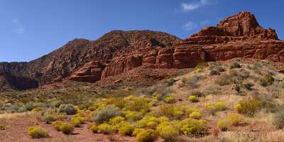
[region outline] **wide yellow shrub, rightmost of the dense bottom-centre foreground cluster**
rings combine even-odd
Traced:
[[[190,134],[200,134],[206,129],[206,122],[197,119],[185,119],[181,121],[182,132],[189,136]]]

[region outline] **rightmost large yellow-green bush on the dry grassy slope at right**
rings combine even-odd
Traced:
[[[239,104],[234,107],[240,114],[247,114],[253,116],[258,109],[261,108],[261,102],[254,97],[247,97],[241,99]]]

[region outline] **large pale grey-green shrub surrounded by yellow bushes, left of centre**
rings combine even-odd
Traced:
[[[113,105],[108,105],[107,107],[94,111],[93,120],[97,124],[102,124],[104,121],[109,121],[109,119],[114,116],[119,116],[120,114],[121,111],[119,108],[114,107]]]

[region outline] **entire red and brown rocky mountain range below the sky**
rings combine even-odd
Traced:
[[[62,80],[96,82],[136,67],[182,69],[231,58],[284,62],[284,42],[246,11],[184,40],[155,31],[111,31],[94,41],[72,40],[31,62],[1,62],[0,88],[31,89]]]

